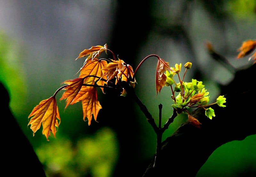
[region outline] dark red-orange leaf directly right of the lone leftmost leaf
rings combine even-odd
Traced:
[[[78,92],[80,91],[81,87],[84,83],[84,78],[76,78],[73,80],[67,80],[62,82],[62,84],[68,84],[66,88],[64,88],[66,91],[63,93],[60,100],[66,99],[66,107],[68,107],[69,104],[72,104],[73,100],[77,96]]]

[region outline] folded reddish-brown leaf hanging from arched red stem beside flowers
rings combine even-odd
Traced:
[[[164,87],[166,81],[165,71],[170,70],[169,63],[164,60],[158,60],[156,67],[156,95],[160,93],[161,89]]]

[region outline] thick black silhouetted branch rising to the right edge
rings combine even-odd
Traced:
[[[227,107],[212,106],[216,115],[212,120],[205,116],[202,108],[195,110],[192,116],[202,123],[201,128],[193,127],[189,122],[182,124],[162,143],[158,161],[161,173],[153,168],[152,160],[143,176],[196,176],[218,147],[256,134],[256,119],[252,116],[256,99],[252,84],[255,72],[256,65],[237,71],[233,81],[221,86],[220,95],[227,98]]]

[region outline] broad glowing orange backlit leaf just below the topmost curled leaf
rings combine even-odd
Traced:
[[[81,68],[80,70],[80,75],[79,78],[84,78],[85,76],[88,75],[94,75],[94,76],[98,76],[104,80],[107,80],[107,76],[103,74],[102,68],[106,67],[108,65],[107,61],[105,60],[98,60],[97,58],[95,58],[93,61],[92,60],[88,60],[84,66]],[[86,84],[94,84],[94,82],[96,80],[99,80],[99,78],[96,77],[87,77],[84,79],[84,83]],[[106,83],[106,81],[103,80],[99,80],[97,82],[97,85],[101,85],[104,86],[104,83]],[[102,92],[103,92],[103,88],[101,88]]]

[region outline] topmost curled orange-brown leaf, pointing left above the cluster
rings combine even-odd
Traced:
[[[100,53],[102,53],[102,52],[106,52],[107,53],[107,44],[105,44],[104,46],[92,46],[91,48],[89,48],[89,49],[84,49],[80,54],[79,54],[79,56],[76,58],[76,60],[78,59],[78,58],[82,58],[82,57],[85,57],[85,56],[87,56],[87,55],[89,55],[88,57],[87,57],[87,59],[85,60],[85,62],[87,61],[87,60],[93,60],[94,58],[97,58],[97,57],[99,57],[99,55],[100,55]]]

